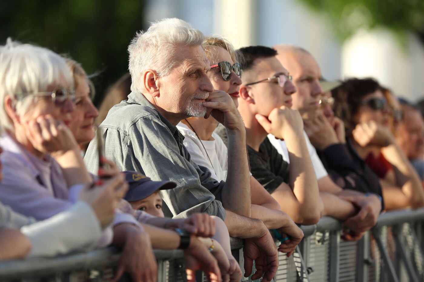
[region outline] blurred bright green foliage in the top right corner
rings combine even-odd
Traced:
[[[342,40],[357,30],[387,28],[401,41],[408,32],[424,44],[424,0],[298,0],[325,15]]]

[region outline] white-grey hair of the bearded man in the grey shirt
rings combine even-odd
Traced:
[[[128,46],[131,91],[142,92],[139,76],[146,69],[156,70],[159,76],[168,75],[175,66],[175,46],[200,46],[204,35],[181,19],[162,19],[153,22],[148,30],[139,31]]]

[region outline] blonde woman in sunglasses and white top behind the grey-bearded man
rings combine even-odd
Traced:
[[[220,37],[206,37],[203,48],[211,64],[207,75],[212,85],[216,90],[228,93],[234,104],[238,106],[242,70],[231,43]],[[177,125],[185,137],[184,146],[190,152],[192,160],[199,166],[208,168],[212,173],[212,178],[221,181],[226,180],[227,177],[227,147],[220,136],[214,132],[217,126],[218,122],[210,117],[208,119],[191,117]],[[240,144],[240,146],[245,146],[245,144]],[[251,217],[261,219],[268,229],[279,229],[279,232],[284,233],[283,238],[292,238],[290,246],[280,249],[290,256],[297,245],[296,240],[302,237],[301,232],[298,232],[293,220],[281,211],[276,200],[251,175],[250,187],[246,187],[246,189],[249,188]],[[283,226],[286,228],[281,228]]]

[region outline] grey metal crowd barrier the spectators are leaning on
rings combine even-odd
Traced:
[[[343,227],[339,221],[321,218],[318,224],[301,226],[305,237],[292,257],[279,253],[273,281],[424,281],[423,222],[424,208],[384,213],[360,241],[348,242],[340,239]],[[244,273],[243,242],[232,238],[231,243]],[[181,251],[155,250],[155,255],[159,282],[187,281]],[[0,281],[110,281],[118,261],[114,248],[53,259],[6,261],[0,263]],[[121,280],[130,281],[128,276]],[[206,276],[199,272],[196,281],[207,281]]]

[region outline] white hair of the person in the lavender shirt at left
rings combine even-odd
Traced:
[[[24,98],[59,83],[73,86],[64,58],[47,48],[8,38],[6,44],[0,46],[0,130],[13,130],[4,107],[6,96],[19,97],[15,107],[18,113],[23,113],[32,101]]]

